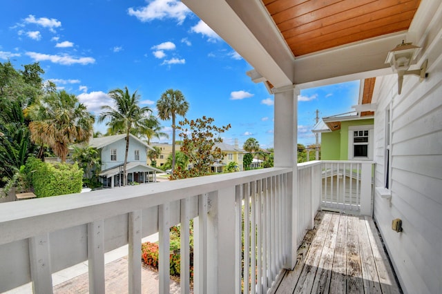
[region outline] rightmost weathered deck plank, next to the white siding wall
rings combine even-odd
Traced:
[[[381,239],[378,237],[378,231],[371,217],[365,217],[365,225],[367,226],[367,234],[374,257],[374,263],[378,272],[379,283],[381,284],[382,293],[401,293],[394,278],[392,267],[388,262],[387,254],[384,251]]]

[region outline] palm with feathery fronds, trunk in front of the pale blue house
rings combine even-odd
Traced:
[[[106,126],[109,127],[111,133],[124,133],[126,134],[126,154],[124,155],[123,164],[123,184],[126,185],[126,166],[127,156],[129,151],[129,137],[134,129],[140,128],[140,125],[144,121],[148,112],[151,112],[151,108],[140,107],[140,95],[137,95],[137,91],[131,95],[127,87],[122,89],[115,89],[108,92],[108,95],[114,100],[115,107],[102,106],[104,110],[98,118],[99,122],[103,122],[105,119],[109,119],[106,122]]]

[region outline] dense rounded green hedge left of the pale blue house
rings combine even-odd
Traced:
[[[83,170],[77,164],[50,164],[30,157],[26,173],[37,197],[79,193],[83,185]]]

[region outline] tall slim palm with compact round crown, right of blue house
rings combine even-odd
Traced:
[[[172,172],[175,168],[175,117],[184,117],[189,110],[189,102],[180,90],[169,89],[157,101],[158,116],[162,120],[172,119]]]

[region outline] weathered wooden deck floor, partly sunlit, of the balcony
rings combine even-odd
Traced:
[[[276,293],[402,293],[371,217],[319,212]]]

